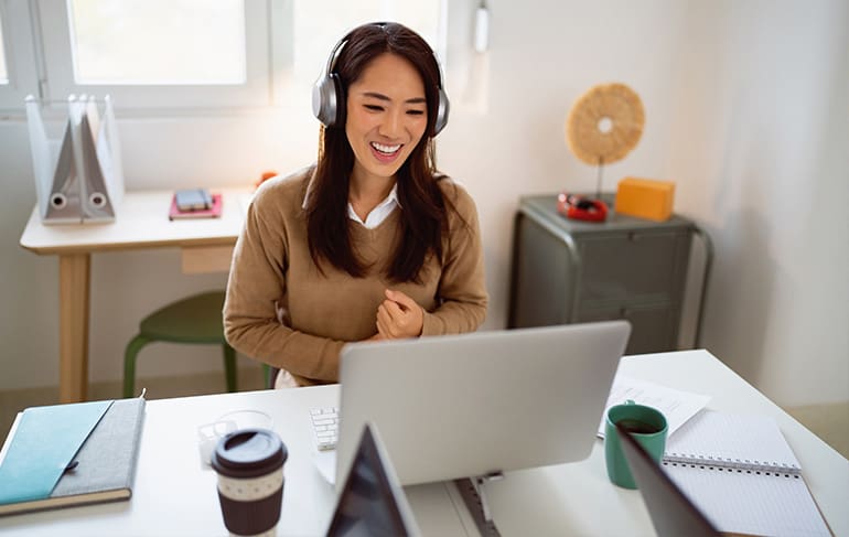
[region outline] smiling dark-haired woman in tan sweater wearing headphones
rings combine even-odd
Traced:
[[[313,109],[318,163],[257,191],[224,304],[227,341],[280,367],[277,386],[337,382],[346,343],[471,332],[486,314],[474,202],[436,170],[448,100],[428,44],[354,29]]]

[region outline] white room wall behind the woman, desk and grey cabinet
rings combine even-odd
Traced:
[[[778,404],[849,399],[847,3],[488,4],[491,49],[472,65],[477,93],[452,94],[439,138],[440,167],[481,212],[486,326],[506,322],[518,197],[594,189],[595,170],[563,141],[569,107],[597,83],[624,82],[643,98],[646,129],[605,169],[604,185],[627,174],[674,180],[676,211],[713,238],[703,345]],[[129,189],[248,183],[314,158],[308,96],[297,112],[119,125]],[[35,197],[30,168],[25,126],[0,121],[0,389],[58,378],[57,261],[18,246]],[[92,276],[93,380],[120,378],[141,316],[225,281],[181,276],[179,254],[168,249],[95,255]],[[208,353],[151,346],[139,375],[219,367]]]

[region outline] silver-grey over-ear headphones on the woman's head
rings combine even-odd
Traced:
[[[380,28],[386,25],[385,22],[374,24]],[[345,117],[345,92],[342,89],[342,82],[333,68],[336,66],[336,58],[346,43],[346,37],[336,43],[324,71],[312,87],[312,114],[325,127],[338,126],[338,122]],[[437,63],[437,71],[439,72],[439,103],[437,104],[437,122],[433,126],[433,136],[437,136],[448,125],[450,104],[442,87],[442,66],[439,64],[436,53],[431,51],[431,54],[433,54],[433,61]]]

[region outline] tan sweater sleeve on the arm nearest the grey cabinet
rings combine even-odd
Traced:
[[[473,332],[486,318],[488,297],[477,210],[465,190],[452,182],[449,185],[443,192],[452,204],[437,308],[424,312],[421,335]]]

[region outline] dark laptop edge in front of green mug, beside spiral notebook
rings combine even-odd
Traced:
[[[713,524],[696,507],[663,468],[657,464],[640,443],[617,425],[622,451],[625,453],[631,475],[646,504],[655,531],[660,537],[687,535],[718,536]]]

